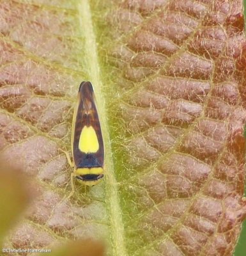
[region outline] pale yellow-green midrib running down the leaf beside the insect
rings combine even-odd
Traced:
[[[89,0],[80,0],[78,3],[79,26],[82,38],[84,40],[84,63],[86,63],[86,77],[95,89],[96,103],[102,132],[104,135],[105,147],[105,204],[109,222],[111,227],[111,243],[113,255],[127,256],[125,248],[124,226],[121,217],[121,207],[119,201],[119,193],[117,188],[116,177],[114,175],[114,164],[112,163],[111,142],[109,139],[109,129],[107,124],[104,99],[102,98],[102,79],[100,79],[100,64],[98,61],[96,36],[93,29],[93,21],[91,17],[91,8]]]

